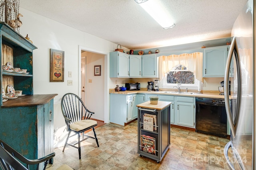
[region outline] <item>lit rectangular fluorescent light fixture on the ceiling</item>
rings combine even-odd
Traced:
[[[134,0],[137,2],[148,14],[154,18],[164,29],[169,29],[175,26],[172,17],[161,4],[160,0]]]

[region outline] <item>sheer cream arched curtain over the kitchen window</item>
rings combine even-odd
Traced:
[[[159,57],[159,78],[162,80],[167,72],[174,66],[183,65],[187,70],[194,73],[197,80],[203,82],[203,53],[196,52],[191,54],[169,55]]]

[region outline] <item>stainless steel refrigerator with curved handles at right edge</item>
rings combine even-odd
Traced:
[[[230,142],[224,155],[230,169],[252,170],[255,166],[255,4],[249,0],[232,29],[224,77]],[[228,81],[232,94],[228,95]]]

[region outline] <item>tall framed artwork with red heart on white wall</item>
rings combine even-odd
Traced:
[[[64,51],[50,49],[50,82],[64,82]]]

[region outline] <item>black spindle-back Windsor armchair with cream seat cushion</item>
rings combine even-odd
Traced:
[[[66,145],[69,145],[71,147],[74,147],[78,149],[79,153],[79,159],[81,159],[81,146],[80,143],[88,138],[93,138],[96,140],[96,143],[99,147],[98,139],[94,130],[94,127],[97,126],[97,121],[90,120],[90,117],[94,112],[89,111],[82,100],[76,95],[72,93],[67,93],[62,97],[61,100],[61,109],[63,116],[66,121],[66,130],[68,131],[68,137],[66,139],[63,152],[66,148]],[[87,131],[89,129],[92,129],[94,132],[94,137],[90,137],[88,135],[84,134],[84,131]],[[68,139],[70,136],[70,133],[74,132],[74,135],[78,135],[78,142],[71,144],[68,143]],[[80,141],[80,133],[82,133],[82,140]],[[84,138],[85,137],[85,138]],[[78,144],[78,147],[75,145]]]

